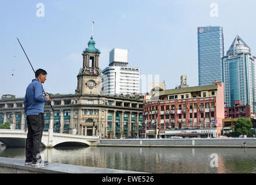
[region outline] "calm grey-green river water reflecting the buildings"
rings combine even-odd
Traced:
[[[255,173],[256,149],[166,147],[57,147],[42,149],[49,162],[150,173]],[[211,154],[218,167],[211,167]],[[25,158],[24,149],[0,147],[1,157]]]

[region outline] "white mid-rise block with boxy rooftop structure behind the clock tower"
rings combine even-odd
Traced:
[[[102,71],[105,95],[140,93],[140,68],[127,64],[128,50],[113,49],[109,52],[109,66]]]

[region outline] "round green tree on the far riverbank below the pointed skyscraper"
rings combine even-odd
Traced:
[[[251,120],[247,120],[244,118],[239,118],[235,121],[235,135],[247,135],[251,133],[251,128],[253,127],[253,123],[251,123]]]

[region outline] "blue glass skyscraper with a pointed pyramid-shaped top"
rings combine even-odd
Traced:
[[[225,106],[234,106],[235,100],[240,100],[255,113],[255,56],[239,35],[222,58],[222,66]]]

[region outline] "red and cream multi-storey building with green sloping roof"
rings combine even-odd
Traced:
[[[148,136],[156,134],[163,138],[163,135],[178,135],[177,129],[197,128],[200,133],[188,130],[185,132],[187,135],[197,136],[211,132],[218,137],[224,119],[224,84],[215,81],[206,86],[160,91],[143,108],[143,132]],[[188,134],[192,132],[193,134]]]

